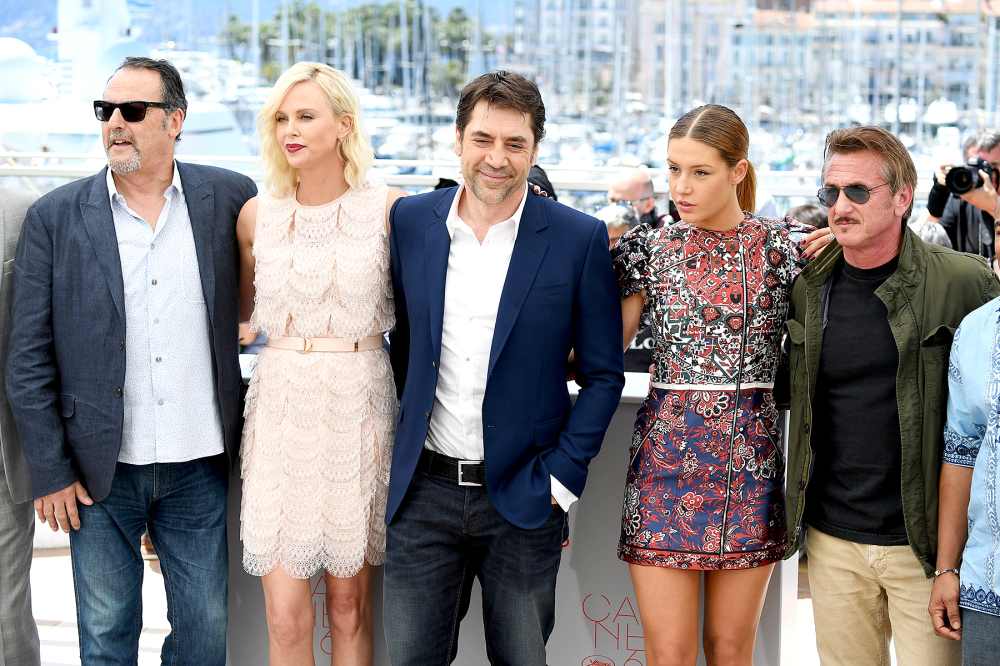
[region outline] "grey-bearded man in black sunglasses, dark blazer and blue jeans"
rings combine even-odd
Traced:
[[[177,162],[184,86],[126,58],[94,102],[108,168],[28,211],[7,391],[40,521],[70,534],[80,660],[134,664],[148,531],[164,664],[226,661],[240,436],[236,218],[249,178]]]

